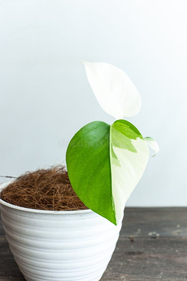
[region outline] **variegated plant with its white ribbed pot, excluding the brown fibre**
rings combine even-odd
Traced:
[[[116,118],[112,125],[85,125],[66,151],[71,185],[89,209],[37,210],[0,199],[7,241],[27,281],[100,280],[119,237],[125,203],[147,165],[147,144],[159,150],[123,119],[141,107],[130,78],[107,63],[83,63],[96,99]]]

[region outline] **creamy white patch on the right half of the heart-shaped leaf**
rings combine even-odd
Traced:
[[[112,197],[117,224],[123,215],[125,203],[142,177],[149,159],[149,149],[143,139],[137,138],[131,142],[136,153],[113,146],[120,166],[116,165],[111,157]]]

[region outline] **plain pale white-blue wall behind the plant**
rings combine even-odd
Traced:
[[[79,62],[102,61],[130,76],[143,106],[128,121],[160,145],[128,205],[187,206],[186,10],[185,0],[1,0],[0,175],[65,163],[63,141],[114,121]]]

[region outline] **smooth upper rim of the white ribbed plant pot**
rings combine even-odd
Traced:
[[[7,185],[9,185],[13,180],[6,181],[0,184],[0,192],[5,188]],[[90,213],[92,210],[86,209],[86,210],[75,210],[75,211],[52,211],[52,210],[37,210],[37,209],[30,209],[30,208],[24,208],[20,206],[16,206],[10,203],[7,203],[6,201],[2,200],[0,198],[0,204],[8,206],[13,209],[22,210],[26,212],[31,213],[40,213],[40,214],[83,214],[83,213]]]

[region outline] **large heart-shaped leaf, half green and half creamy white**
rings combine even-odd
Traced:
[[[82,127],[66,151],[69,179],[81,201],[117,224],[125,203],[139,182],[149,149],[130,122],[111,126],[94,121]]]

